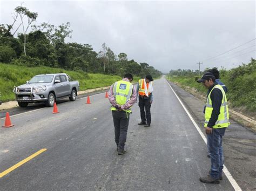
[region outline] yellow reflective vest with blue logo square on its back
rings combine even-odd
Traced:
[[[131,99],[133,85],[129,81],[120,80],[113,85],[114,99],[118,105],[124,105]],[[111,106],[111,111],[117,111],[116,107]],[[131,113],[131,108],[124,110]]]

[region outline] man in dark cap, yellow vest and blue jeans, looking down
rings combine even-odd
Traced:
[[[198,83],[208,88],[208,94],[205,108],[205,132],[207,134],[207,148],[211,156],[211,170],[200,181],[204,183],[219,183],[223,179],[222,171],[224,165],[224,153],[222,138],[226,127],[230,125],[227,107],[226,93],[223,87],[215,82],[212,73],[207,72]]]

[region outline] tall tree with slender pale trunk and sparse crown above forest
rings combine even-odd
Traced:
[[[26,56],[26,32],[28,31],[29,26],[31,25],[31,23],[36,21],[38,13],[37,12],[30,12],[24,6],[17,6],[15,8],[15,11],[16,11],[17,15],[19,15],[19,17],[21,18],[21,22],[22,22],[23,35],[24,35],[24,54]],[[28,18],[28,25],[26,26],[26,29],[25,29],[25,24],[23,22],[24,16],[26,16],[26,18]]]

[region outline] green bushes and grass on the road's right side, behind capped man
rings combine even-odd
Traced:
[[[206,69],[208,70],[208,69]],[[206,72],[206,70],[204,72]],[[220,79],[227,86],[227,99],[233,107],[244,107],[247,112],[256,111],[256,60],[243,64],[231,70],[221,69]],[[182,74],[181,74],[182,72]],[[207,90],[201,83],[197,83],[198,71],[171,70],[168,77],[170,81],[181,86],[196,88],[206,95]]]

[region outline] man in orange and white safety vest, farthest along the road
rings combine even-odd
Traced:
[[[140,118],[142,119],[138,125],[145,125],[144,127],[150,127],[151,124],[150,107],[153,102],[152,81],[152,76],[147,75],[145,79],[139,80],[139,84],[137,86],[137,93],[139,95]]]

